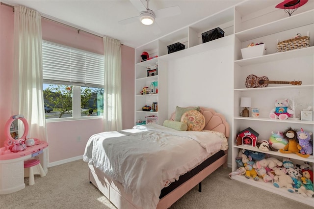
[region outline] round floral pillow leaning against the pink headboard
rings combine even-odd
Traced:
[[[202,131],[205,127],[205,117],[197,110],[184,112],[181,122],[187,124],[187,131]]]

